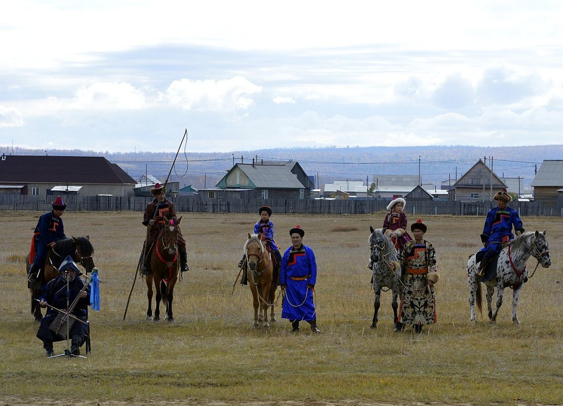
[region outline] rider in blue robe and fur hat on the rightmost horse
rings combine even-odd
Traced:
[[[485,220],[485,227],[481,234],[481,241],[485,244],[485,247],[477,252],[477,258],[481,256],[479,277],[484,276],[485,268],[491,258],[501,251],[502,243],[514,239],[512,226],[514,226],[516,236],[524,232],[522,220],[520,220],[518,212],[512,209],[512,207],[508,207],[512,197],[506,189],[502,192],[497,192],[493,199],[497,201],[497,207],[489,210]]]

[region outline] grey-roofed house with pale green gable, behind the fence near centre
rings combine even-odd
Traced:
[[[235,164],[215,185],[218,189],[252,189],[255,199],[309,199],[311,179],[295,161]]]

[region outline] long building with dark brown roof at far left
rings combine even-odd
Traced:
[[[20,195],[133,196],[135,184],[135,179],[102,156],[0,157],[0,185]]]

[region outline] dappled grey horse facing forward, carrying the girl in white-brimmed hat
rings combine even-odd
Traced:
[[[399,263],[397,262],[397,250],[395,245],[389,237],[387,237],[381,228],[376,230],[369,227],[372,232],[369,236],[368,243],[371,250],[370,259],[373,262],[373,292],[376,299],[373,302],[373,320],[370,328],[377,327],[377,312],[379,310],[380,298],[382,288],[386,287],[387,290],[392,290],[393,296],[391,297],[391,307],[393,308],[393,323],[394,327],[397,326],[397,296],[400,292],[400,270]],[[394,263],[395,270],[389,270],[388,264]],[[386,292],[387,290],[384,290]]]

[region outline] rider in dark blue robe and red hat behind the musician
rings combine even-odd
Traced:
[[[39,271],[45,264],[47,249],[55,246],[59,240],[65,240],[65,228],[62,225],[61,215],[66,209],[66,203],[60,196],[52,202],[53,209],[39,217],[35,227],[32,251],[34,251],[33,264],[29,268],[28,279],[30,283],[38,280]]]

